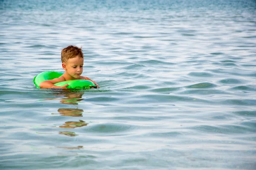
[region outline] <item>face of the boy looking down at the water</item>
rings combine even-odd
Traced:
[[[68,59],[67,62],[62,63],[62,68],[71,77],[78,79],[83,73],[84,59],[76,56],[74,58]]]

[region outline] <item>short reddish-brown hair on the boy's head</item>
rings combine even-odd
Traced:
[[[68,59],[75,58],[76,56],[79,56],[80,58],[84,58],[82,47],[79,48],[75,45],[70,45],[61,50],[61,62],[67,62]]]

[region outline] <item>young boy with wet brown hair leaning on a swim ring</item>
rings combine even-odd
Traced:
[[[76,79],[85,79],[93,82],[97,88],[99,85],[88,77],[81,76],[83,72],[84,65],[84,54],[81,48],[78,48],[75,45],[70,45],[61,51],[61,62],[62,68],[65,70],[65,73],[61,75],[61,77],[46,80],[41,82],[40,88],[66,88],[68,86],[64,85],[62,87],[54,85],[57,82],[64,82],[68,80],[76,80]]]

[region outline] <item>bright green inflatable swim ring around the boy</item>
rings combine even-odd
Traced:
[[[56,71],[44,71],[44,72],[38,74],[36,77],[34,77],[33,82],[37,88],[40,88],[39,85],[41,82],[43,82],[45,80],[58,78],[62,74],[63,73],[56,72]],[[69,80],[69,81],[65,81],[65,82],[58,82],[58,83],[55,83],[54,85],[64,86],[66,84],[69,84],[67,86],[67,88],[70,88],[70,89],[87,89],[87,88],[92,88],[92,87],[96,88],[96,85],[89,80]]]

